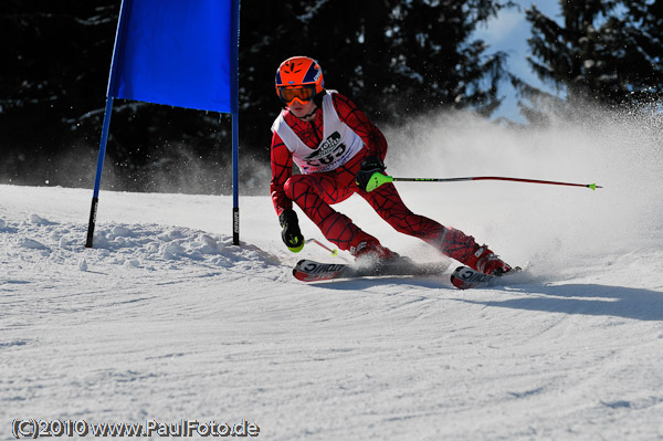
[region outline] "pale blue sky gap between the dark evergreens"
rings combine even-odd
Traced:
[[[520,7],[520,10],[512,8],[501,11],[496,18],[488,21],[487,27],[477,30],[476,36],[490,44],[488,52],[505,51],[508,54],[507,70],[509,72],[534,86],[550,91],[550,87],[544,85],[527,64],[526,56],[530,54],[527,45],[530,29],[529,23],[525,20],[525,10],[532,4],[536,4],[547,17],[558,19],[559,2],[556,0],[516,0],[515,3]],[[493,114],[493,118],[505,117],[519,123],[525,122],[518,109],[516,91],[511,83],[504,82],[501,93],[505,99]]]

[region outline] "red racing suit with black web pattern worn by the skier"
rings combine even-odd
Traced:
[[[336,115],[325,115],[325,112],[336,112],[338,119],[335,119]],[[334,135],[328,134],[329,136],[325,138],[325,120],[347,126],[351,133],[345,135],[346,138],[352,140],[352,136],[358,136],[362,143],[360,149],[351,157],[338,159],[341,153],[348,149],[338,147],[339,143],[336,143],[336,150],[327,149],[328,159],[323,157],[320,160],[319,155],[316,157],[316,151],[327,148],[329,140],[334,140]],[[282,126],[284,124],[287,127]],[[327,92],[323,97],[323,105],[318,105],[312,122],[304,122],[284,109],[274,122],[272,129],[270,190],[277,216],[284,210],[291,209],[294,201],[315,222],[329,242],[335,243],[341,250],[351,251],[357,245],[354,240],[360,237],[366,238],[367,234],[366,232],[358,234],[361,230],[347,216],[337,212],[332,206],[357,193],[366,199],[376,212],[397,231],[420,238],[445,255],[465,262],[478,248],[472,237],[411,212],[392,183],[382,185],[370,192],[357,186],[355,176],[361,167],[361,161],[371,155],[385,160],[387,140],[364,112],[344,95]],[[280,133],[283,136],[280,136]],[[293,133],[296,138],[293,137]],[[284,143],[283,138],[288,140],[288,145]],[[346,140],[340,139],[340,144],[345,144]],[[302,150],[306,147],[311,150],[308,157],[314,157],[314,160],[309,162],[302,159]],[[295,157],[302,171],[301,175],[293,176],[292,174],[293,151],[301,156],[301,158]],[[337,164],[332,164],[335,160]],[[327,162],[330,164],[332,169],[325,168],[324,165]]]

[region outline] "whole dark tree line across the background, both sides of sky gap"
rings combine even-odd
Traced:
[[[662,2],[564,0],[560,18],[536,8],[532,69],[564,88],[559,106],[655,101],[661,93]],[[0,2],[0,182],[91,187],[119,0]],[[507,0],[242,0],[240,148],[245,182],[267,164],[280,102],[276,66],[316,57],[326,85],[373,120],[444,108],[490,116],[512,78],[540,120],[543,92],[505,71],[506,54],[473,32]],[[537,116],[538,115],[538,116]],[[227,191],[228,116],[116,101],[104,183],[137,191]],[[180,178],[173,178],[177,172]],[[181,178],[181,174],[186,178]]]

